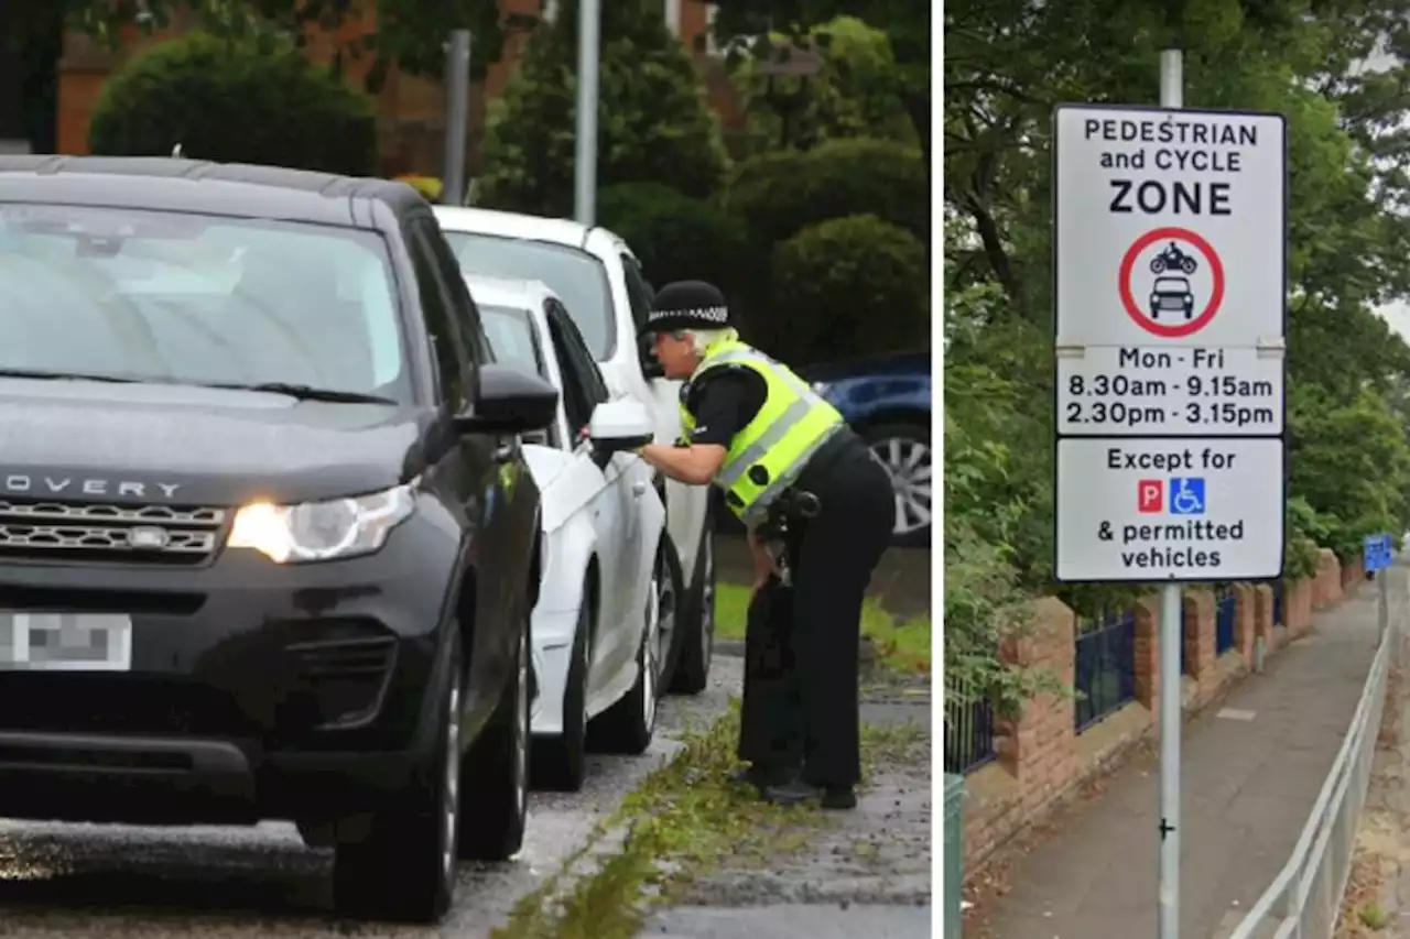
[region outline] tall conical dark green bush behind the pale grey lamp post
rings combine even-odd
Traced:
[[[485,131],[478,204],[567,216],[572,211],[578,13],[560,4],[540,25]],[[705,87],[658,0],[602,6],[598,186],[670,183],[687,196],[713,195],[725,148]]]

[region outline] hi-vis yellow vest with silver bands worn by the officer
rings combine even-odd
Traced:
[[[756,524],[763,520],[768,505],[792,485],[812,454],[843,429],[845,422],[836,407],[788,367],[739,340],[709,347],[691,375],[691,383],[723,365],[753,369],[767,389],[764,406],[729,441],[725,462],[713,479],[725,491],[730,510],[746,524]],[[685,407],[684,393],[681,426],[688,440],[695,430],[695,416]]]

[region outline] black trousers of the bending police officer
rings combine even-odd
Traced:
[[[792,587],[771,579],[749,610],[740,759],[801,764],[815,785],[862,775],[857,646],[862,601],[891,539],[895,496],[857,446],[814,482],[822,510],[797,523]]]

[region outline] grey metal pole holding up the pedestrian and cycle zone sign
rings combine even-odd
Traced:
[[[1160,107],[1184,107],[1184,55],[1160,52]],[[1160,588],[1160,881],[1159,939],[1180,939],[1180,725],[1184,709],[1179,584]]]

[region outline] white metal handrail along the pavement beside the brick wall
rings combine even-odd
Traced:
[[[1399,637],[1397,625],[1380,633],[1347,737],[1292,856],[1225,939],[1331,939],[1351,876],[1356,826],[1385,709],[1390,656],[1399,647]]]

